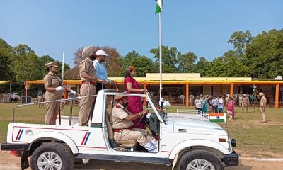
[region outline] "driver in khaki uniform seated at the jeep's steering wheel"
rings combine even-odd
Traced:
[[[126,106],[128,103],[127,96],[115,96],[117,102],[112,109],[111,124],[114,131],[114,140],[137,140],[141,146],[149,152],[158,152],[158,141],[154,139],[144,129],[132,128],[132,121],[146,115],[149,111],[142,111],[137,114],[130,113]]]

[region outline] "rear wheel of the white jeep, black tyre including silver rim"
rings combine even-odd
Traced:
[[[33,152],[30,167],[33,170],[71,170],[74,167],[74,155],[67,145],[45,143]]]

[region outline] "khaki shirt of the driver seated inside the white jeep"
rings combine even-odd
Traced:
[[[122,105],[117,103],[112,110],[110,122],[113,129],[124,129],[134,125],[132,121],[124,120],[124,118],[126,118],[129,114],[123,108],[124,107]]]

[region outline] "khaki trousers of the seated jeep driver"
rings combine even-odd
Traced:
[[[141,146],[153,140],[154,137],[149,135],[144,129],[132,128],[132,130],[121,130],[114,133],[114,140],[137,140]]]

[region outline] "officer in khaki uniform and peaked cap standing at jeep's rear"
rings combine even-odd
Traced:
[[[47,67],[48,74],[43,78],[45,84],[45,100],[46,101],[56,101],[61,99],[61,91],[66,87],[62,86],[62,80],[57,76],[58,65],[57,62],[49,62],[45,64]],[[67,87],[71,93],[76,94],[76,91],[71,90]],[[60,101],[46,103],[46,115],[45,115],[45,124],[46,125],[55,125],[56,118],[59,113]]]

